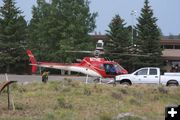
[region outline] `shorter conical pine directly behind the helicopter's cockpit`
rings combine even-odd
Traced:
[[[119,15],[115,15],[109,24],[109,28],[107,36],[110,40],[106,42],[105,48],[111,53],[117,53],[109,57],[116,59],[126,69],[132,69],[130,63],[132,57],[125,55],[129,54],[129,46],[131,46],[131,30],[129,26],[126,26],[126,23]]]

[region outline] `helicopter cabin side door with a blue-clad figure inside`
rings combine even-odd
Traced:
[[[104,64],[104,69],[107,75],[116,75],[116,69],[113,64]]]

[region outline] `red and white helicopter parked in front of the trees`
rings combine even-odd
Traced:
[[[95,57],[85,57],[80,63],[52,63],[52,62],[37,62],[34,55],[30,50],[26,50],[29,60],[32,65],[32,73],[36,73],[37,67],[61,69],[66,71],[74,71],[83,73],[92,77],[98,78],[114,78],[116,75],[127,74],[121,65],[117,62],[100,58],[99,55],[103,54],[103,41],[98,40],[95,51],[69,51],[69,52],[84,52],[94,53]]]

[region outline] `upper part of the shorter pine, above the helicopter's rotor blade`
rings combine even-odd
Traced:
[[[125,26],[126,23],[119,16],[115,15],[109,24],[110,30],[107,30],[107,36],[110,41],[107,41],[106,48],[118,53],[128,52],[128,47],[130,45],[130,32],[128,27]]]

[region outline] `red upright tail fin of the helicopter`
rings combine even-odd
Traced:
[[[34,55],[32,54],[31,50],[27,49],[26,53],[29,56],[29,61],[31,62],[32,65],[32,73],[36,73],[37,72],[37,61],[34,57]]]

